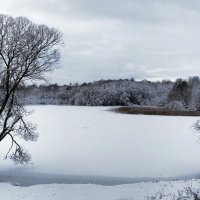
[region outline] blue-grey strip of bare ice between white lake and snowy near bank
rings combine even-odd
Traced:
[[[39,172],[19,172],[18,170],[0,171],[0,183],[11,183],[15,186],[33,186],[40,184],[94,184],[115,186],[142,182],[160,182],[200,179],[200,173],[174,177],[109,177],[95,175],[62,175]]]

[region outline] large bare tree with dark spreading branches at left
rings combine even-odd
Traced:
[[[44,79],[59,61],[57,49],[62,34],[45,25],[37,25],[24,17],[0,15],[0,142],[10,137],[6,158],[16,163],[28,163],[30,154],[18,143],[38,138],[36,128],[27,122],[29,114],[18,101],[16,91],[27,81]]]

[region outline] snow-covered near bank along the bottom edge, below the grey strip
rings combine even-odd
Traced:
[[[196,191],[200,187],[200,182],[190,180],[116,186],[49,184],[29,187],[0,183],[0,193],[3,200],[147,200],[150,197],[156,197],[152,198],[154,200],[172,200],[178,199],[175,197],[178,197],[178,194],[180,195],[187,187]],[[183,196],[185,196],[184,193]],[[193,198],[185,199],[193,200]]]

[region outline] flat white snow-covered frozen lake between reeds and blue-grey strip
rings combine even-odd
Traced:
[[[1,160],[1,171],[161,178],[200,172],[200,134],[192,129],[198,117],[119,114],[109,107],[28,109],[40,133],[37,142],[24,143],[33,165]],[[1,155],[9,142],[1,144]]]

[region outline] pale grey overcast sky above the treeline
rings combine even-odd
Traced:
[[[63,32],[51,83],[200,74],[199,0],[0,0],[0,13]]]

